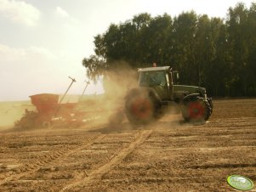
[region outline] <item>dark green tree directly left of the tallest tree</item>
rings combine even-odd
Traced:
[[[202,82],[211,95],[225,96],[227,94],[226,84],[230,79],[229,66],[227,65],[230,60],[227,28],[224,21],[219,18],[213,18],[210,24],[211,43],[210,48],[208,48],[210,59],[208,59],[208,65],[205,65]]]

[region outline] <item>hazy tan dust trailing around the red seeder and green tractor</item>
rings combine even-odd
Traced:
[[[100,95],[83,95],[82,97],[77,96],[79,99],[77,99],[76,103],[61,103],[58,106],[60,114],[57,117],[63,117],[64,121],[60,123],[58,120],[50,120],[53,127],[80,127],[82,129],[94,130],[105,125],[105,131],[112,131],[116,128],[119,131],[133,128],[124,115],[123,107],[128,90],[138,87],[138,71],[131,69],[127,63],[122,61],[116,62],[114,66],[114,69],[111,69],[111,71],[105,71],[103,77],[105,93]],[[14,127],[14,122],[20,120],[25,115],[26,109],[37,111],[36,107],[31,104],[31,101],[0,102],[0,130]],[[175,111],[168,111],[167,115],[163,116],[160,121],[156,121],[144,128],[162,129],[179,127],[180,116],[176,115],[171,117],[174,119],[170,119],[167,117],[169,113],[175,113]],[[42,114],[39,114],[40,116]],[[37,128],[37,125],[33,128]]]

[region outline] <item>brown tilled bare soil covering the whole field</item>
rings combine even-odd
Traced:
[[[147,127],[5,130],[0,191],[237,191],[231,174],[256,184],[256,99],[213,104],[203,125],[168,115]]]

